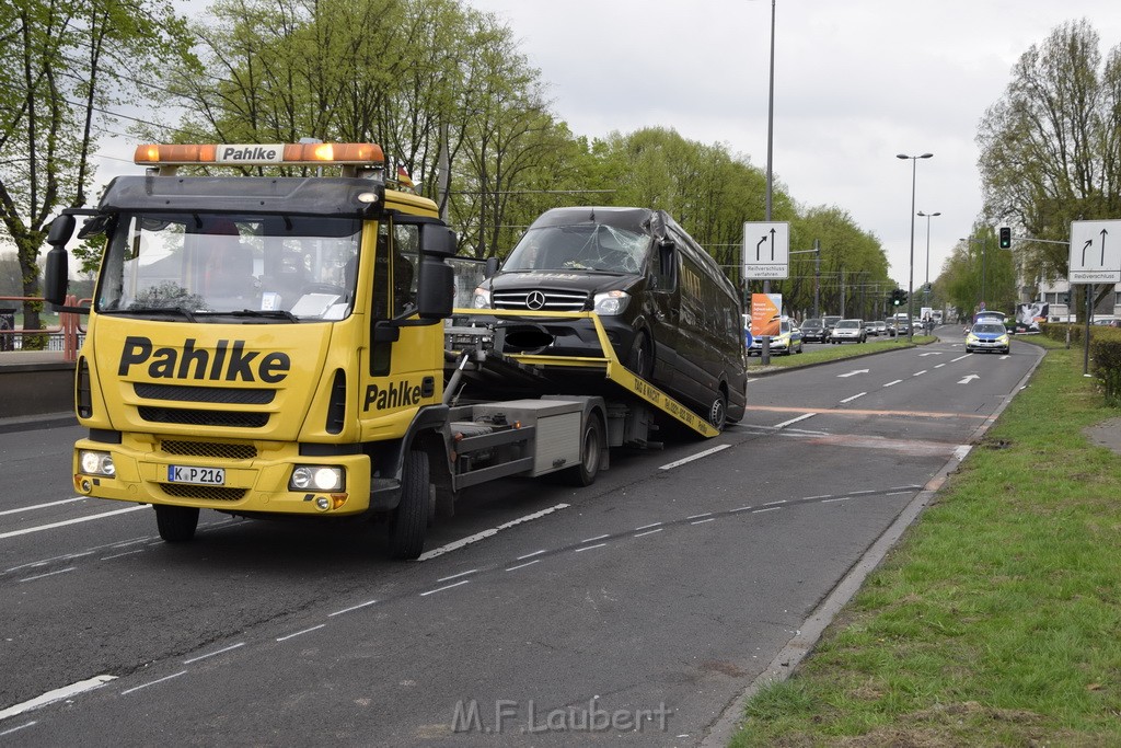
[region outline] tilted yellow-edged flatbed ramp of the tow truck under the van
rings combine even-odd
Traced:
[[[589,318],[600,342],[600,357],[501,353],[511,321]],[[456,324],[445,331],[445,401],[600,395],[609,401],[641,401],[701,436],[720,432],[703,417],[640,378],[619,360],[594,312],[506,312],[455,310]]]

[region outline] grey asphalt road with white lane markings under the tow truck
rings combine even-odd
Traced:
[[[0,434],[0,746],[697,745],[1040,355],[955,331],[754,380],[586,489],[480,487],[413,563],[216,512],[168,545],[75,500],[78,430]]]

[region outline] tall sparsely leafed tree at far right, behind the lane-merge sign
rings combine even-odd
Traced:
[[[978,133],[985,212],[1038,239],[1121,214],[1121,46],[1102,62],[1085,19],[1055,28],[1012,68]],[[1067,249],[1025,242],[1025,277],[1066,277]]]

